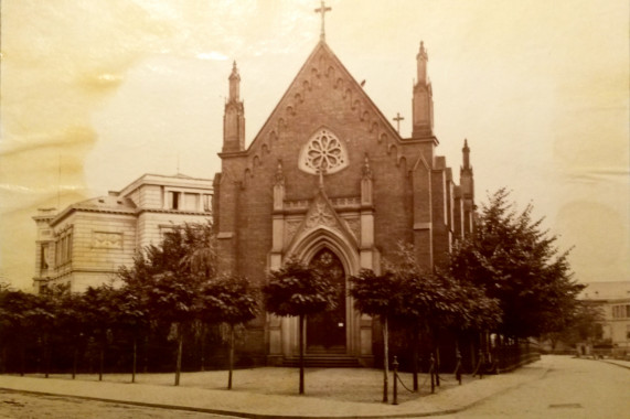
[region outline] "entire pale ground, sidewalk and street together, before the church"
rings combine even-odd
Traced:
[[[397,406],[380,401],[380,372],[366,368],[309,369],[305,396],[297,396],[297,372],[288,368],[236,370],[233,390],[225,389],[225,372],[184,374],[182,387],[171,386],[172,376],[162,374],[140,375],[136,385],[129,384],[129,375],[107,375],[103,383],[95,375],[79,376],[81,380],[67,375],[49,380],[0,376],[2,387],[17,389],[24,382],[38,382],[30,390],[49,394],[33,399],[28,394],[0,391],[0,415],[28,418],[46,411],[51,418],[126,418],[168,417],[170,412],[171,417],[199,417],[179,409],[188,408],[245,417],[623,418],[630,407],[624,397],[629,366],[629,362],[547,355],[512,373],[483,379],[466,376],[462,386],[444,374],[434,395],[424,376],[419,397],[398,387]],[[409,375],[403,374],[402,380],[409,384]],[[143,407],[104,402],[109,400]]]

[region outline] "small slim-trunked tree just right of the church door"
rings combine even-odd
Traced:
[[[371,269],[362,269],[357,276],[350,277],[350,296],[354,307],[361,313],[378,316],[383,329],[383,402],[387,401],[389,376],[389,319],[401,311],[403,288],[401,277],[387,270],[376,275]]]

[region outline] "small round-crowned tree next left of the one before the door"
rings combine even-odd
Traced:
[[[229,327],[229,356],[227,388],[232,389],[234,369],[235,327],[256,318],[258,312],[257,290],[247,278],[221,276],[206,283],[201,292],[205,316],[211,322],[223,322]]]

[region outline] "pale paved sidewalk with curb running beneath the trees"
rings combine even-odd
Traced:
[[[213,382],[221,378],[224,383],[225,372],[184,373],[180,387],[172,386],[172,375],[142,375],[140,383],[136,384],[115,382],[116,376],[106,376],[104,382],[96,382],[94,376],[89,380],[0,376],[0,388],[245,418],[396,418],[457,412],[488,397],[542,378],[548,369],[549,361],[543,357],[513,373],[483,379],[467,377],[461,386],[452,376],[445,376],[448,382],[435,395],[426,395],[425,390],[425,395],[418,397],[404,394],[399,387],[402,402],[397,406],[378,401],[382,382],[377,377],[382,377],[382,372],[373,369],[309,369],[306,396],[297,395],[298,372],[293,368],[236,370],[233,390],[221,389]],[[356,386],[359,382],[353,379],[365,379],[369,375],[374,382],[370,384],[369,391],[374,394],[369,400],[353,401],[353,398],[356,400],[355,393],[361,391]],[[126,377],[128,380],[129,376]],[[171,378],[169,383],[164,382],[167,377]],[[403,378],[409,383],[409,375]],[[389,379],[389,386],[392,384]],[[209,388],[213,386],[215,388]],[[327,395],[335,397],[323,398]]]

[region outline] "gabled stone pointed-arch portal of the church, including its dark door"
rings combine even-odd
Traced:
[[[355,219],[361,223],[361,243],[366,244],[366,248],[362,249],[355,233],[348,228],[346,221],[335,213],[325,195],[321,194],[311,203],[297,232],[290,235],[285,233],[288,232],[287,219],[279,214],[275,216],[273,248],[277,250],[271,250],[270,268],[278,269],[287,258],[297,257],[320,268],[339,289],[334,310],[307,318],[307,354],[355,357],[363,365],[372,365],[372,319],[354,310],[354,301],[346,292],[350,276],[357,275],[362,267],[373,267],[369,247],[372,243],[371,214],[356,214]],[[348,217],[348,214],[344,215]],[[275,359],[271,363],[298,355],[297,318],[270,318],[268,342],[270,359]]]

